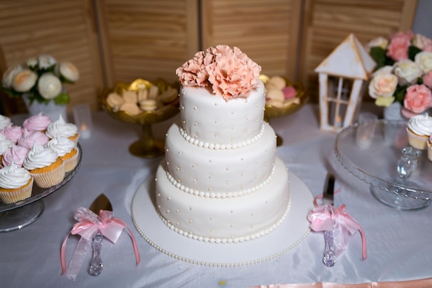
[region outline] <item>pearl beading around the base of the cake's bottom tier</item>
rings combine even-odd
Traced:
[[[291,209],[291,198],[288,202],[288,207],[286,207],[285,213],[284,215],[282,215],[282,218],[280,218],[277,222],[275,222],[275,224],[273,224],[271,227],[266,228],[262,231],[259,231],[257,233],[253,233],[250,236],[244,236],[244,237],[235,237],[235,238],[211,238],[211,237],[203,237],[203,236],[197,236],[193,233],[190,233],[188,231],[184,231],[182,229],[179,229],[177,227],[175,227],[175,225],[171,224],[171,222],[169,222],[168,220],[166,220],[164,218],[164,216],[162,216],[159,211],[157,211],[157,214],[159,215],[159,217],[161,218],[161,220],[166,224],[166,226],[168,226],[169,229],[179,233],[182,236],[186,236],[188,238],[191,238],[193,240],[198,240],[198,241],[202,241],[202,242],[209,242],[209,243],[238,243],[238,242],[245,242],[248,240],[253,240],[253,239],[257,239],[259,237],[265,236],[266,234],[270,233],[271,231],[275,230],[277,227],[279,227],[279,225],[286,219],[286,216],[288,215],[289,210]]]

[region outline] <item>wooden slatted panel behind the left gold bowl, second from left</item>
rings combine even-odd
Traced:
[[[197,0],[96,2],[106,86],[136,78],[177,81],[175,69],[198,50]]]

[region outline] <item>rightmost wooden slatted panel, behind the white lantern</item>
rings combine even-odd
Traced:
[[[416,0],[306,0],[299,75],[311,101],[317,102],[318,96],[314,69],[349,33],[366,44],[410,30],[416,6]]]

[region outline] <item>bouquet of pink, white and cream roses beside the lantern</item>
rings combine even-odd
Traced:
[[[366,50],[377,63],[369,83],[377,106],[400,102],[407,118],[432,107],[432,39],[397,32],[369,41]]]

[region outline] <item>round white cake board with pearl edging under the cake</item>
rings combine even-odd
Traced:
[[[137,189],[132,200],[132,221],[139,234],[155,249],[175,259],[217,267],[252,265],[273,259],[293,249],[308,235],[307,214],[313,209],[313,195],[306,184],[290,171],[291,209],[286,220],[266,236],[237,243],[209,243],[193,240],[170,230],[153,204],[155,177]]]

